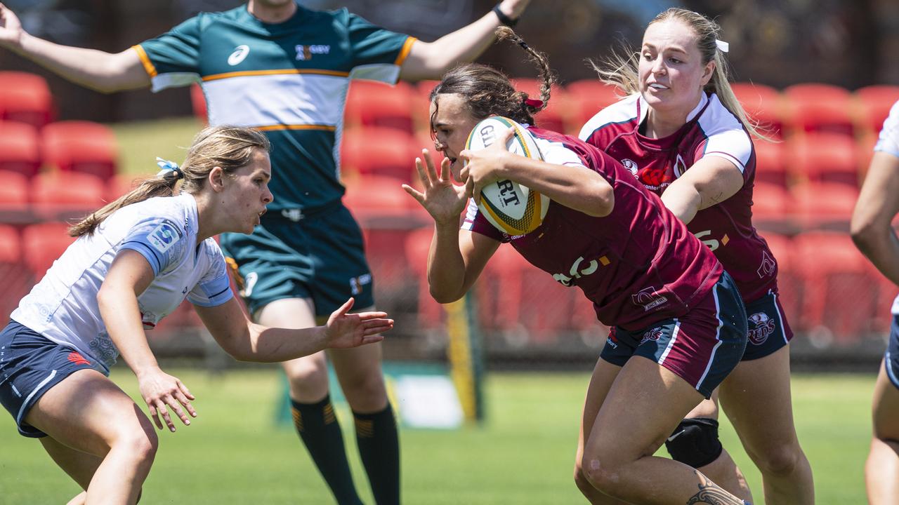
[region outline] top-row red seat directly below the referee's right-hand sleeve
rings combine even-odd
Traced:
[[[346,98],[348,129],[362,127],[396,128],[412,134],[415,121],[412,105],[415,93],[410,84],[394,86],[372,81],[352,81]]]

